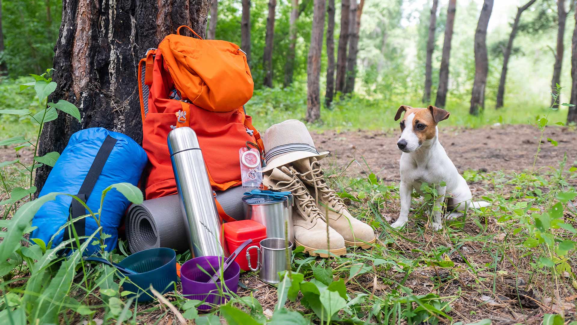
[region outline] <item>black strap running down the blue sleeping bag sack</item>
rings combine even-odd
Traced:
[[[86,174],[86,178],[84,178],[84,182],[82,183],[82,186],[80,186],[80,190],[78,191],[78,194],[76,194],[76,196],[78,198],[80,198],[80,200],[82,200],[84,203],[86,203],[88,201],[88,197],[92,193],[92,190],[94,189],[96,181],[98,180],[98,177],[100,176],[100,173],[102,172],[102,169],[104,168],[104,164],[106,164],[106,161],[108,160],[108,156],[110,156],[110,152],[114,148],[114,145],[116,144],[116,142],[117,142],[117,139],[113,138],[110,135],[107,135],[106,139],[104,139],[104,142],[102,143],[102,146],[100,146],[98,153],[96,153],[96,157],[94,157],[94,161],[92,162],[90,169],[88,169],[88,173]],[[76,217],[80,217],[80,216],[83,216],[85,214],[86,214],[86,209],[84,208],[84,206],[80,202],[78,202],[78,200],[73,198],[72,203],[70,204],[70,213],[69,213],[69,219],[68,220],[72,220]],[[76,230],[76,234],[78,235],[78,237],[82,237],[82,236],[86,235],[86,231],[85,231],[86,218],[83,218],[83,219],[80,219],[80,220],[74,222],[73,226],[74,226],[74,229]],[[62,238],[62,241],[66,241],[66,240],[70,239],[71,231],[72,230],[68,230],[68,229],[64,231],[64,237]],[[72,248],[74,248],[74,245],[72,245]]]

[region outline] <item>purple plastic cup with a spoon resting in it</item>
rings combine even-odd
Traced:
[[[224,271],[224,287],[222,287],[220,279],[217,279],[215,283],[207,283],[214,274],[213,269],[219,269],[222,263],[224,263],[222,256],[200,256],[182,264],[182,294],[188,299],[204,301],[204,304],[197,307],[201,311],[211,309],[215,305],[222,305],[230,300],[231,293],[237,293],[241,267],[235,261]],[[207,275],[197,265],[200,265],[210,275]]]

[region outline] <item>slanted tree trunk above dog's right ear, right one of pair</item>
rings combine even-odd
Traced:
[[[445,40],[443,42],[443,57],[439,69],[439,87],[437,87],[437,99],[434,105],[445,107],[447,103],[447,90],[449,88],[449,58],[451,58],[451,39],[453,38],[453,26],[455,24],[455,11],[457,0],[449,0],[447,8],[447,24],[445,24]]]

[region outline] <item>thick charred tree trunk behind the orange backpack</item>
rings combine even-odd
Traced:
[[[66,99],[80,109],[81,123],[66,114],[48,122],[40,136],[39,156],[62,152],[70,136],[83,128],[104,127],[142,143],[137,67],[150,47],[179,25],[203,36],[209,0],[64,0],[54,56],[52,101]],[[46,166],[36,172],[42,189]]]

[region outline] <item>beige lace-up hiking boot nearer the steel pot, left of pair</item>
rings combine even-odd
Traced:
[[[323,213],[306,190],[304,184],[286,167],[272,169],[270,175],[264,175],[263,183],[271,190],[291,191],[295,206],[293,212],[293,230],[295,245],[304,246],[311,256],[328,257],[328,254],[314,253],[315,250],[327,250],[336,256],[344,255],[347,249],[344,239],[333,228],[328,227]],[[328,231],[327,231],[328,228]]]

